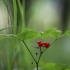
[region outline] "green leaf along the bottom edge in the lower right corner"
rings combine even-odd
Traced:
[[[70,67],[65,64],[47,63],[43,70],[70,70]]]

